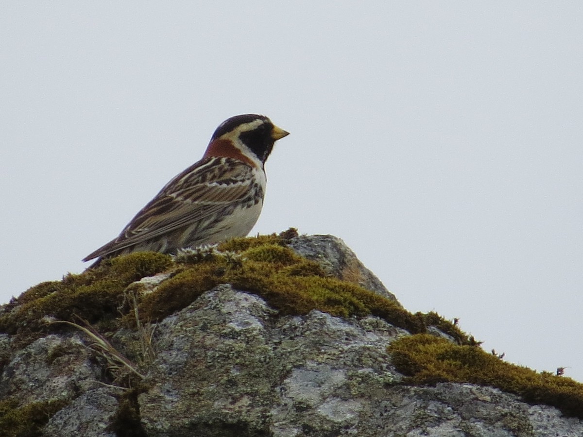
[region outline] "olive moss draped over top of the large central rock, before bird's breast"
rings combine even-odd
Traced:
[[[219,249],[243,248],[237,262],[230,256],[201,258],[143,297],[139,314],[144,321],[163,319],[210,288],[229,283],[260,295],[282,314],[306,314],[312,309],[343,317],[373,314],[409,332],[426,330],[422,316],[355,284],[327,277],[317,263],[280,245],[279,238],[237,238],[220,245]]]

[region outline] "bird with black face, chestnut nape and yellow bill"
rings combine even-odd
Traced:
[[[265,115],[241,114],[220,124],[201,160],[176,175],[125,226],[118,237],[83,262],[132,252],[175,254],[178,249],[245,237],[265,196],[265,161],[289,135]]]

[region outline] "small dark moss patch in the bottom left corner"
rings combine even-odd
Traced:
[[[0,401],[0,431],[6,437],[36,437],[41,429],[61,408],[65,400],[48,400],[18,406],[18,401],[9,398]]]

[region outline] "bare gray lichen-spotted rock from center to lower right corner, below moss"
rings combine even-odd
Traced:
[[[402,335],[372,316],[278,317],[216,287],[160,323],[142,422],[160,437],[583,435],[581,421],[491,387],[396,385],[386,348]]]

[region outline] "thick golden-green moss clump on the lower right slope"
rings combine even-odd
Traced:
[[[406,382],[434,385],[465,382],[497,387],[527,402],[547,404],[583,418],[583,384],[550,372],[510,364],[480,347],[459,346],[428,334],[402,337],[388,348]]]

